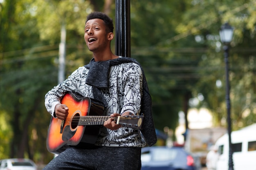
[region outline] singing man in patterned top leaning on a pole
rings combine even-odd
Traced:
[[[144,113],[142,134],[149,146],[156,142],[151,115],[151,98],[143,70],[128,57],[114,55],[112,19],[101,12],[90,13],[84,39],[93,53],[91,62],[79,67],[64,82],[45,95],[45,106],[53,117],[64,120],[69,108],[61,104],[67,92],[105,103],[107,116]],[[121,127],[114,118],[104,122],[95,144],[80,142],[54,158],[44,170],[140,170],[141,147],[146,145],[139,130]]]

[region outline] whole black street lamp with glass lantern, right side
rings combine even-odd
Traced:
[[[226,104],[227,104],[227,123],[229,135],[229,170],[234,170],[233,167],[233,152],[231,146],[231,118],[230,118],[230,98],[229,98],[229,44],[233,38],[234,28],[228,23],[225,23],[220,28],[220,40],[224,44],[224,57],[225,57],[225,74],[226,74]]]

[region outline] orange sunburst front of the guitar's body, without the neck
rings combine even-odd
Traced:
[[[52,117],[47,136],[47,150],[52,153],[60,153],[69,145],[77,145],[81,141],[85,126],[77,126],[80,116],[87,116],[90,110],[90,98],[76,98],[72,93],[67,93],[61,100],[61,104],[69,108],[65,121]],[[63,126],[62,126],[63,125]]]

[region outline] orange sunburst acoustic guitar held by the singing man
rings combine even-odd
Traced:
[[[104,116],[104,106],[90,97],[78,97],[73,93],[66,93],[61,104],[69,108],[65,120],[52,117],[48,135],[47,150],[59,154],[67,147],[75,146],[79,142],[94,144],[99,128],[110,116]],[[123,127],[141,129],[143,116],[114,117],[114,121]]]

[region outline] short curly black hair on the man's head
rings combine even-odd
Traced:
[[[105,25],[106,25],[106,31],[108,33],[112,33],[114,31],[114,25],[113,25],[113,20],[106,14],[106,13],[102,13],[102,12],[92,12],[90,13],[87,18],[86,18],[86,21],[85,23],[88,21],[88,20],[92,20],[92,19],[101,19],[105,22]]]

